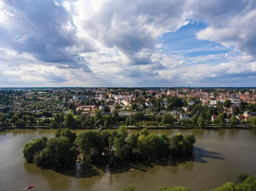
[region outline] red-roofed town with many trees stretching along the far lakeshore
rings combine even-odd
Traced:
[[[256,89],[1,89],[0,127],[256,127]]]

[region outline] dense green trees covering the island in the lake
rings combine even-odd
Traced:
[[[70,165],[77,159],[79,146],[86,163],[108,163],[115,165],[117,160],[147,160],[148,157],[184,156],[192,153],[195,137],[193,134],[175,134],[169,138],[149,134],[144,128],[140,134],[128,137],[127,128],[120,126],[117,131],[83,131],[77,137],[67,128],[59,128],[55,138],[42,137],[26,143],[23,156],[27,162],[36,165]]]

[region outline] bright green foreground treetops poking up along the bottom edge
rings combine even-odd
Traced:
[[[159,191],[191,191],[189,187],[174,186],[168,188],[163,186],[158,188]],[[220,188],[216,188],[212,191],[255,191],[256,190],[256,176],[249,176],[247,173],[237,174],[237,181],[227,182]],[[128,185],[122,189],[122,191],[135,191],[134,185]]]

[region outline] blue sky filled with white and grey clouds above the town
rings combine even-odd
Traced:
[[[0,0],[0,87],[254,87],[256,0]]]

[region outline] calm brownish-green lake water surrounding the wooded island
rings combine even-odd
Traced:
[[[80,131],[88,130],[74,130]],[[108,130],[113,131],[113,130]],[[137,134],[140,130],[129,130]],[[41,168],[23,158],[23,146],[33,138],[54,137],[56,129],[0,130],[0,191],[19,191],[34,184],[32,191],[157,191],[167,185],[189,186],[192,191],[211,190],[236,180],[237,172],[256,174],[256,129],[157,129],[150,134],[195,134],[195,151],[186,157],[120,162],[115,167],[76,164],[72,168]],[[128,172],[134,168],[134,172]]]

